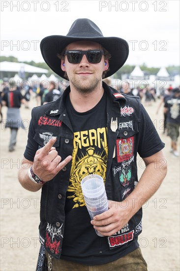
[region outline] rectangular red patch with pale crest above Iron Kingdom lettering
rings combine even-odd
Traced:
[[[118,163],[129,160],[133,155],[134,136],[117,139],[116,147]]]

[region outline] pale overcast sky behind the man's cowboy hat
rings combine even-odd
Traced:
[[[126,64],[180,65],[179,0],[1,0],[0,55],[43,62],[43,37],[66,35],[77,18],[89,18],[104,36],[129,44]]]

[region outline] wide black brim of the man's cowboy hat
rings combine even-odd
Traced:
[[[75,41],[89,40],[101,44],[110,54],[109,70],[105,78],[119,70],[127,60],[129,54],[128,43],[119,37],[71,37],[51,35],[43,38],[40,43],[41,54],[46,64],[60,77],[64,78],[64,71],[60,68],[58,54],[69,44]]]

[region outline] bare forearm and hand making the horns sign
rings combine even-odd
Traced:
[[[19,170],[18,178],[25,189],[35,192],[42,187],[41,184],[36,184],[30,179],[28,170],[31,166],[32,171],[43,180],[43,182],[48,182],[70,162],[72,158],[70,155],[61,162],[60,155],[58,155],[56,148],[53,147],[55,142],[56,137],[53,137],[44,147],[37,150],[34,156],[34,162],[27,159],[22,160],[22,167]]]

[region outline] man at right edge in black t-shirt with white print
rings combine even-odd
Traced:
[[[169,97],[165,100],[164,109],[167,113],[168,135],[171,138],[170,152],[175,157],[179,157],[177,141],[180,135],[180,88],[175,88],[172,90],[172,95],[169,95]]]

